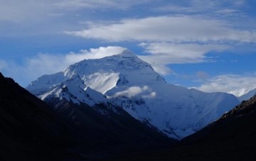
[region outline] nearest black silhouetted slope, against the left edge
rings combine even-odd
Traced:
[[[0,73],[0,160],[66,157],[71,129],[47,104]]]

